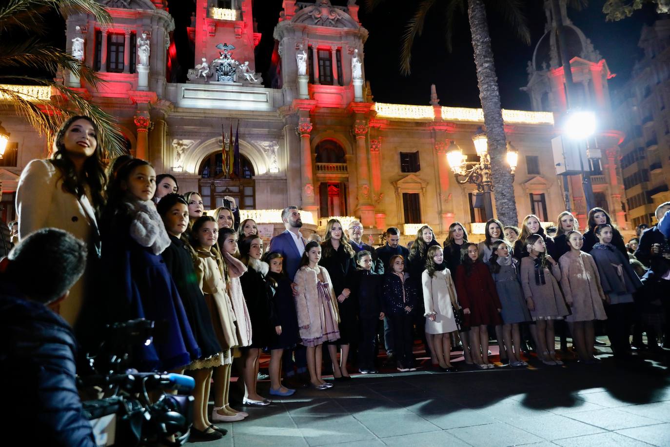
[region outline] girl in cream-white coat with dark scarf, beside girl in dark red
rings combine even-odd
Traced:
[[[452,372],[452,343],[450,334],[458,330],[456,312],[459,309],[452,275],[444,263],[440,245],[433,245],[426,254],[425,270],[421,273],[423,304],[425,306],[425,333],[433,337],[437,365],[442,371]]]

